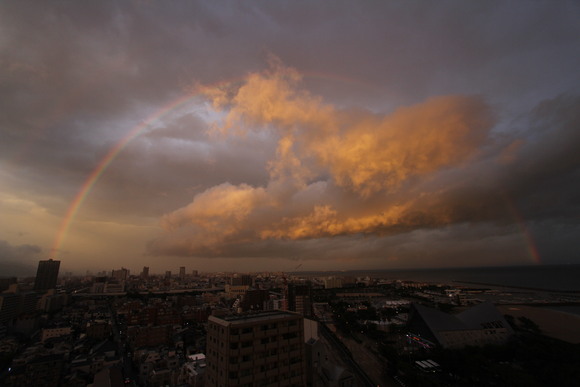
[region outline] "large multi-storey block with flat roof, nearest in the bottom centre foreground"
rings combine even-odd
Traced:
[[[206,357],[210,387],[302,387],[304,319],[287,311],[210,316]]]

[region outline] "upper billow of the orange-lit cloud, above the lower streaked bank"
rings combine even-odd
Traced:
[[[278,131],[274,172],[330,173],[336,184],[362,196],[467,161],[493,123],[478,97],[438,97],[375,114],[326,104],[300,90],[299,80],[295,70],[275,62],[267,72],[250,74],[235,92],[206,90],[214,106],[228,109],[218,129]],[[299,159],[311,161],[309,170]]]

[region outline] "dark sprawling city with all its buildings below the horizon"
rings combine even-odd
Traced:
[[[578,372],[580,316],[561,309],[580,307],[578,290],[60,264],[0,278],[3,386],[573,385]]]

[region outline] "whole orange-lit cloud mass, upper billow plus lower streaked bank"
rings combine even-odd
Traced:
[[[273,60],[268,71],[248,75],[237,89],[202,89],[223,109],[213,130],[234,136],[269,131],[278,136],[276,156],[265,166],[266,186],[218,185],[165,215],[163,245],[179,235],[193,252],[454,221],[442,189],[427,183],[478,155],[493,125],[481,98],[444,96],[379,114],[325,103],[301,90],[299,81],[296,70]]]

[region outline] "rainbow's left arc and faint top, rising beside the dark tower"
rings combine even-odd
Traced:
[[[325,80],[331,81],[339,81],[343,83],[349,83],[358,86],[366,86],[363,82],[353,80],[350,78],[346,78],[343,76],[338,76],[335,74],[323,74],[317,72],[306,72],[302,73],[305,78],[321,78]],[[236,83],[242,82],[245,78],[236,78],[233,80],[226,80],[221,81],[216,84],[207,86],[208,88],[220,88],[220,87],[228,87],[234,85]],[[99,178],[103,175],[105,170],[109,167],[109,165],[115,160],[115,158],[121,153],[121,151],[129,144],[132,140],[137,138],[141,135],[145,130],[151,126],[155,121],[165,117],[169,113],[173,112],[175,109],[185,105],[195,97],[201,95],[202,93],[198,90],[194,90],[192,92],[186,93],[185,95],[180,96],[179,98],[169,102],[168,104],[164,105],[161,109],[156,110],[154,113],[150,114],[147,118],[133,127],[126,135],[123,137],[119,142],[117,142],[109,152],[99,161],[97,166],[93,169],[93,171],[89,174],[89,176],[84,181],[83,185],[77,192],[76,196],[70,203],[64,218],[58,228],[56,237],[50,249],[50,255],[56,256],[62,248],[64,240],[68,234],[70,225],[74,220],[76,214],[78,213],[79,209],[83,205],[85,199],[87,198],[88,194],[90,193],[91,189],[94,187],[95,183],[99,180]]]

